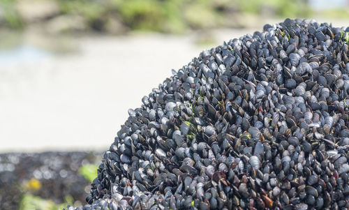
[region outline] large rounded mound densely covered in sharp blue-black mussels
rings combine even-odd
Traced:
[[[286,19],[203,51],[128,110],[77,209],[348,209],[348,41]]]

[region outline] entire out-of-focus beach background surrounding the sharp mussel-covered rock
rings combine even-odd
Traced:
[[[0,0],[0,209],[84,204],[129,108],[205,49],[349,0]]]

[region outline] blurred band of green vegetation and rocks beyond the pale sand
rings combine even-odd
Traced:
[[[18,6],[23,1],[50,1],[57,10],[36,20],[28,19]],[[33,22],[50,22],[55,17],[68,15],[72,21],[73,17],[81,17],[86,24],[84,30],[116,33],[127,30],[181,33],[188,29],[234,27],[239,14],[268,17],[311,15],[304,0],[0,0],[1,11],[3,17],[2,20],[0,17],[0,24],[12,29],[22,29]],[[235,15],[234,18],[232,15]]]

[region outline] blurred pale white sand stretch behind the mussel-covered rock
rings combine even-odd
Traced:
[[[215,34],[223,43],[246,32]],[[154,33],[76,42],[74,54],[0,65],[1,152],[107,149],[127,110],[207,48]]]

